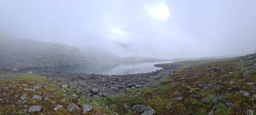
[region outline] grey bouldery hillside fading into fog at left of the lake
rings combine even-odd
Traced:
[[[77,47],[61,43],[43,43],[32,39],[0,38],[0,70],[27,70],[95,63]]]

